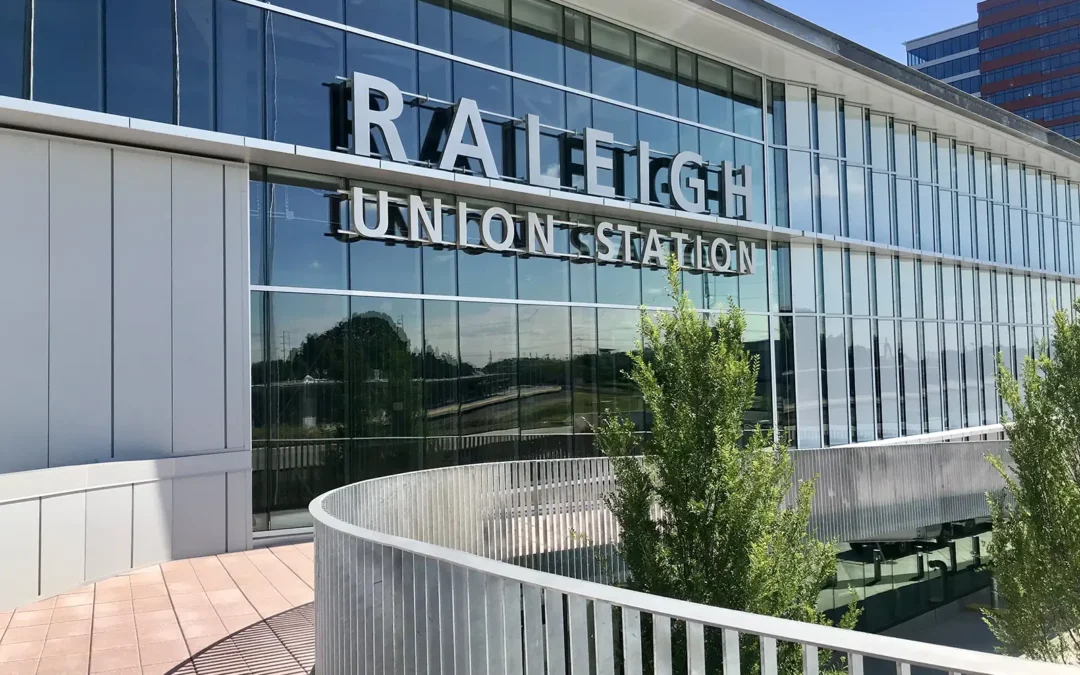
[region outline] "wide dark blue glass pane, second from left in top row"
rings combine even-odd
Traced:
[[[103,0],[37,0],[35,100],[86,110],[105,108],[103,9]]]

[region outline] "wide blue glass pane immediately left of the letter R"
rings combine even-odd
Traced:
[[[345,33],[284,15],[267,23],[267,137],[328,148],[330,116],[323,83],[343,75]]]

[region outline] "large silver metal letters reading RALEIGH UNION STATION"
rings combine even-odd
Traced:
[[[382,102],[381,105],[378,102]],[[386,152],[390,159],[395,162],[408,162],[409,158],[406,156],[396,126],[396,120],[405,109],[401,90],[383,78],[354,72],[352,103],[353,151],[365,157],[375,154],[377,150],[373,147],[372,140],[373,132],[377,130],[386,141]],[[526,132],[526,179],[530,185],[562,189],[559,176],[544,173],[540,158],[540,119],[535,114],[527,114],[522,122]],[[617,161],[611,152],[616,147],[613,136],[608,132],[586,127],[580,134],[580,138],[584,149],[585,192],[596,197],[616,198],[616,188],[600,179],[602,173],[615,174],[617,171]],[[653,190],[661,191],[663,186],[653,186],[656,172],[650,165],[661,158],[652,157],[649,144],[644,140],[639,141],[632,152],[638,158],[636,162],[638,175],[636,180],[633,180],[633,176],[630,177],[630,185],[637,186],[637,201],[651,203]],[[481,110],[476,102],[471,98],[461,98],[451,109],[449,130],[437,167],[443,171],[454,171],[462,158],[476,160],[485,177],[496,180],[502,178],[491,152],[491,144],[488,141]],[[706,212],[708,195],[716,194],[707,188],[706,175],[718,173],[720,186],[718,198],[721,211],[719,215],[737,217],[739,215],[737,199],[742,199],[742,218],[750,220],[753,217],[754,190],[748,166],[737,168],[729,162],[720,162],[717,167],[704,162],[697,152],[690,151],[683,151],[670,160],[661,161],[670,162],[671,178],[666,190],[671,192],[675,205],[681,211]],[[446,206],[438,199],[431,200],[429,210],[429,205],[416,194],[409,195],[404,201],[391,200],[386,190],[379,190],[376,195],[368,195],[365,202],[364,191],[361,188],[353,188],[351,198],[352,222],[349,229],[330,232],[336,237],[402,239],[416,243],[467,245],[464,238],[468,232],[470,210],[464,202],[457,204],[458,241],[446,242],[443,240],[442,227]],[[407,211],[409,224],[407,231],[396,233],[390,231],[391,202],[401,202],[400,205],[395,203],[393,207]],[[500,206],[472,213],[480,216],[481,242],[484,248],[505,253],[555,255],[552,246],[555,221],[552,216],[528,213],[525,217],[518,217]],[[375,221],[369,222],[373,219]],[[517,237],[518,232],[522,233],[521,238]],[[617,232],[621,234],[621,246],[615,238]],[[632,242],[635,235],[640,237],[644,242],[639,260],[632,259]],[[521,240],[524,240],[524,246],[515,247],[523,243]],[[753,242],[739,242],[735,253],[734,247],[723,237],[707,240],[696,235],[691,240],[689,234],[662,233],[648,227],[639,232],[636,226],[612,225],[606,221],[596,225],[596,241],[595,258],[604,261],[662,266],[664,264],[662,242],[671,241],[680,249],[691,247],[691,264],[686,266],[690,269],[727,274],[753,274],[755,271],[756,246]],[[580,254],[593,257],[593,254],[585,251]]]

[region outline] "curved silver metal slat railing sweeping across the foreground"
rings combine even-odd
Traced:
[[[960,458],[990,449],[949,446]],[[896,446],[873,458],[870,467],[880,474],[893,463],[916,462],[939,486],[934,499],[948,501],[945,492],[970,491],[980,474],[963,480],[953,471],[963,462],[943,464],[941,451]],[[843,457],[798,453],[797,473]],[[943,468],[953,481],[940,474]],[[706,665],[719,672],[719,662],[706,664],[707,645],[710,658],[719,658],[730,674],[742,672],[739,645],[750,639],[760,645],[764,674],[778,672],[779,645],[795,644],[807,674],[818,673],[818,651],[825,649],[847,654],[850,673],[863,673],[864,658],[873,657],[895,664],[897,674],[922,665],[973,675],[1076,675],[1066,666],[610,585],[624,573],[612,553],[618,527],[604,503],[612,485],[605,459],[518,461],[387,476],[314,500],[318,672],[659,675],[671,673],[673,664],[684,664],[688,673],[705,673]],[[933,491],[927,488],[928,496]],[[858,512],[853,495],[849,510]],[[895,496],[907,499],[902,490]],[[878,495],[877,501],[870,511],[888,513],[880,507],[889,500]]]

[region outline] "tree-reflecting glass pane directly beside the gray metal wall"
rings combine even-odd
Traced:
[[[270,436],[341,438],[346,429],[346,319],[349,299],[270,294],[264,321],[270,363]]]

